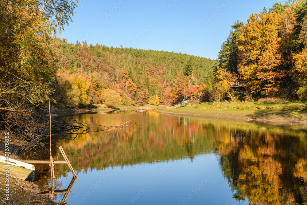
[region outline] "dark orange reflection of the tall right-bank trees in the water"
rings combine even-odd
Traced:
[[[221,168],[237,192],[234,198],[247,197],[250,204],[306,203],[305,132],[259,126],[221,128],[219,134]]]

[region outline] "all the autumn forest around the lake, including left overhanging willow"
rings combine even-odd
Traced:
[[[49,3],[56,5],[56,1]],[[56,10],[26,1],[1,2],[6,23],[0,24],[0,95],[9,100],[0,104],[11,109],[16,104],[45,103],[48,98],[60,108],[170,105],[183,100],[238,102],[242,99],[231,86],[239,77],[244,81],[243,95],[305,101],[306,5],[305,0],[275,3],[252,14],[246,24],[236,20],[218,59],[212,60],[121,45],[70,43],[55,36],[75,14],[74,3]]]

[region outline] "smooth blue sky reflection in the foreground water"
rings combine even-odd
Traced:
[[[63,180],[64,187],[68,186],[70,175],[67,181],[64,178],[59,179]],[[106,177],[104,181],[102,177]],[[99,179],[103,181],[101,184]],[[93,186],[95,183],[97,188]],[[86,196],[86,193],[90,195]],[[84,202],[82,195],[86,198]],[[188,198],[189,195],[191,199]],[[183,159],[107,168],[103,171],[93,170],[87,174],[81,172],[66,202],[78,204],[78,200],[83,202],[81,204],[185,204],[186,200],[189,204],[230,204],[232,201],[236,202],[232,195],[229,184],[220,171],[217,154],[209,153],[195,157],[193,163],[190,159]],[[240,204],[248,203],[246,200]]]

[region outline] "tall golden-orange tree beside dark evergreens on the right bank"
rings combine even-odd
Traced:
[[[281,91],[279,83],[287,75],[280,51],[282,14],[255,14],[247,20],[238,41],[238,71],[252,93],[269,96]]]

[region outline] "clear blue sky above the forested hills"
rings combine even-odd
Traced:
[[[86,40],[88,45],[122,45],[216,59],[237,19],[246,23],[251,14],[260,13],[263,7],[268,10],[275,2],[84,0],[62,37],[71,43]]]

